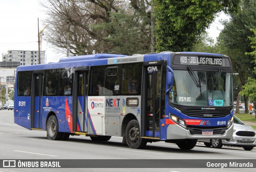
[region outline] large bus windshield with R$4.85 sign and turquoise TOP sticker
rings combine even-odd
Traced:
[[[232,105],[232,75],[219,71],[174,70],[170,101],[186,106]]]

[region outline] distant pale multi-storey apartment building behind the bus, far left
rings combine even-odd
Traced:
[[[45,51],[40,51],[40,63],[45,63]],[[2,55],[2,61],[16,61],[20,65],[36,65],[39,64],[38,51],[28,50],[9,50],[7,54]]]

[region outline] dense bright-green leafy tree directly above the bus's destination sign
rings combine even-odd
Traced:
[[[191,51],[202,32],[222,10],[234,11],[240,0],[153,0],[157,52]]]

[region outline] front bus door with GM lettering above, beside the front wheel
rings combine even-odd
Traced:
[[[144,125],[146,137],[160,138],[160,94],[161,94],[161,65],[145,66],[146,69],[146,107]],[[144,123],[145,123],[144,122]]]

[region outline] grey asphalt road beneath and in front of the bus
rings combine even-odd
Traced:
[[[108,142],[93,142],[90,137],[70,136],[67,141],[48,140],[46,131],[28,130],[14,123],[13,111],[0,111],[0,160],[72,160],[72,165],[84,163],[86,160],[102,160],[99,163],[107,163],[104,160],[130,160],[129,168],[0,168],[0,172],[55,172],[55,171],[86,171],[86,172],[218,172],[221,168],[134,168],[136,163],[132,160],[154,160],[159,164],[159,160],[173,162],[183,159],[205,160],[230,160],[256,159],[256,150],[245,151],[243,148],[222,149],[207,148],[197,145],[192,150],[180,150],[176,144],[165,142],[148,143],[145,149],[131,149],[126,144],[122,144],[122,138],[112,137]],[[77,160],[77,162],[76,162]],[[81,162],[80,160],[84,160]],[[185,161],[184,166],[188,166],[190,161]],[[112,162],[111,162],[112,163]],[[122,162],[119,162],[122,163]],[[142,162],[143,163],[143,162]],[[198,161],[200,163],[200,161]],[[150,165],[152,165],[150,164]],[[101,164],[99,164],[100,167]],[[117,164],[120,165],[120,164]],[[145,165],[145,164],[142,164]],[[121,164],[122,166],[122,164]],[[124,165],[125,166],[125,165]],[[255,168],[246,168],[247,172],[254,172]],[[226,168],[227,172],[241,171],[240,168]]]

